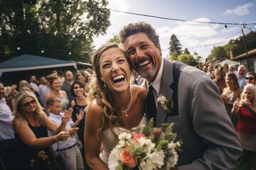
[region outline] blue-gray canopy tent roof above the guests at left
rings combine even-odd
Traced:
[[[20,55],[0,63],[0,74],[3,72],[16,72],[21,70],[44,69],[52,67],[73,66],[77,69],[75,62],[57,60],[36,55]]]

